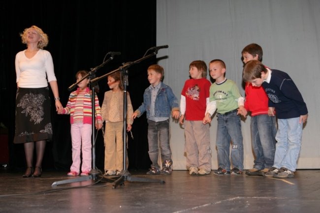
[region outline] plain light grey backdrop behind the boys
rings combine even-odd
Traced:
[[[226,78],[235,81],[242,95],[242,49],[257,43],[263,63],[287,72],[307,103],[298,169],[320,168],[320,1],[319,0],[157,0],[157,45],[164,83],[179,99],[189,64],[213,59],[226,63]],[[209,75],[207,77],[210,78]],[[217,169],[217,119],[211,131],[212,165]],[[184,130],[171,122],[173,168],[186,169]],[[250,117],[242,121],[244,168],[253,167]]]

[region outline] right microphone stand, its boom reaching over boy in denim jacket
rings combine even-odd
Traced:
[[[159,48],[162,49],[163,47]],[[166,47],[165,47],[166,48]],[[152,56],[157,55],[158,53],[158,48],[151,48],[149,50],[154,50],[155,52],[152,54],[149,54],[147,56],[142,57],[139,60],[133,61],[133,62],[128,62],[125,63],[123,66],[119,67],[118,69],[109,72],[103,76],[100,76],[98,78],[95,78],[93,80],[91,80],[91,82],[96,82],[98,80],[101,80],[102,78],[107,77],[108,75],[117,72],[117,71],[121,71],[122,75],[124,75],[124,107],[123,107],[123,120],[124,120],[124,125],[123,125],[123,170],[120,172],[119,176],[120,178],[118,178],[112,185],[112,188],[117,188],[119,185],[124,186],[126,181],[130,181],[130,182],[144,182],[144,183],[165,183],[163,180],[158,180],[158,179],[149,179],[149,178],[141,178],[141,177],[132,177],[130,175],[130,173],[127,170],[127,132],[126,132],[126,126],[127,126],[127,84],[128,84],[128,67],[130,67],[131,65],[135,64],[135,63],[139,63],[140,61],[146,60]],[[147,52],[149,51],[147,50]]]

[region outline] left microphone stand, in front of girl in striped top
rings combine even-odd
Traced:
[[[114,52],[107,53],[107,55],[109,55],[109,54],[111,54],[111,57],[108,60],[103,61],[103,63],[96,66],[95,68],[91,68],[91,71],[87,75],[85,75],[83,78],[81,78],[78,82],[71,85],[68,88],[68,91],[72,91],[76,87],[76,85],[78,85],[84,79],[88,78],[88,76],[90,76],[90,79],[94,78],[94,76],[95,76],[94,74],[99,68],[103,67],[104,64],[108,63],[109,61],[113,60]],[[118,54],[118,55],[120,55],[120,54]],[[91,105],[92,105],[92,138],[91,138],[92,168],[90,171],[90,175],[89,176],[82,176],[79,178],[67,179],[67,180],[63,180],[63,181],[57,181],[57,182],[52,183],[52,186],[56,186],[56,185],[64,184],[64,183],[74,183],[74,182],[83,182],[83,181],[88,181],[88,180],[96,180],[96,176],[99,174],[98,170],[96,169],[96,136],[95,136],[95,132],[96,132],[96,129],[95,129],[95,122],[96,122],[96,118],[95,118],[95,115],[96,115],[95,86],[96,86],[97,82],[96,83],[92,82],[92,81],[90,81],[90,82],[91,82],[90,86],[91,86],[91,90],[92,90],[92,95],[91,95]]]

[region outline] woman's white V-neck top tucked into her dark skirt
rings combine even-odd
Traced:
[[[29,59],[25,51],[17,53],[15,60],[18,87],[42,88],[47,87],[50,81],[57,81],[50,52],[39,49]]]

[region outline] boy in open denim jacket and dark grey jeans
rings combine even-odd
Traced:
[[[145,111],[148,119],[149,157],[152,162],[147,175],[170,175],[172,173],[170,136],[170,113],[178,119],[180,116],[177,97],[171,88],[163,84],[164,70],[158,64],[148,67],[148,81],[150,86],[144,91],[143,103],[133,113],[132,118],[140,117]],[[158,141],[162,160],[162,170],[158,163]]]

